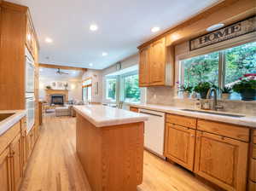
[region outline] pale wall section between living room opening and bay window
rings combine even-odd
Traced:
[[[89,69],[82,77],[87,78],[92,78],[92,102],[102,102],[102,71]]]

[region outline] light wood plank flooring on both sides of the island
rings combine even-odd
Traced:
[[[75,118],[44,118],[21,191],[90,191],[75,151]],[[93,144],[93,142],[91,142]],[[188,171],[144,152],[143,184],[138,191],[209,191]],[[121,190],[120,190],[121,191]]]

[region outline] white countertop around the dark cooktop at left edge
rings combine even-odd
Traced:
[[[26,115],[26,110],[0,110],[0,113],[15,113],[3,121],[0,121],[0,136],[6,130],[9,130],[14,124],[16,124],[20,119],[22,119]]]

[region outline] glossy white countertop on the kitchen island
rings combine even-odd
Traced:
[[[102,105],[74,106],[74,109],[96,127],[131,124],[148,120],[148,116],[144,114]]]

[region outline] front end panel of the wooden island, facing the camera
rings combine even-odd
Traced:
[[[102,128],[102,190],[136,191],[143,182],[144,122]]]

